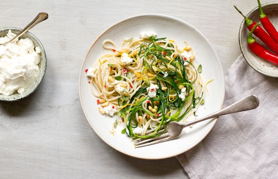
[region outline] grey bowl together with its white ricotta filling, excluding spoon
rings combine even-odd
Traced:
[[[21,29],[0,29],[0,43]],[[46,55],[41,42],[27,32],[19,39],[0,45],[0,101],[18,101],[32,94],[43,79]]]

